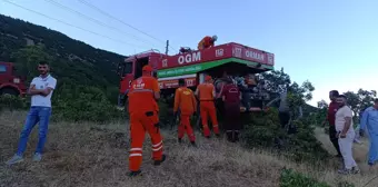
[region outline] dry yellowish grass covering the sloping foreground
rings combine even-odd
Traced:
[[[225,140],[207,140],[197,135],[198,148],[178,145],[175,131],[163,131],[167,161],[153,167],[150,160],[150,142],[145,142],[143,176],[130,179],[128,171],[128,128],[126,122],[107,126],[96,124],[57,122],[50,125],[43,160],[31,163],[31,152],[37,144],[33,130],[26,161],[7,167],[3,163],[17,149],[24,112],[0,115],[0,186],[279,186],[282,167],[295,168],[329,184],[344,179],[357,186],[374,175],[367,168],[352,177],[340,177],[336,168],[314,170],[307,165],[297,165],[260,150],[246,150]],[[328,137],[318,134],[325,146],[332,150]],[[148,137],[148,136],[147,136]],[[366,146],[355,148],[359,161],[365,161]],[[366,164],[360,164],[360,166]],[[377,181],[369,186],[377,186]]]

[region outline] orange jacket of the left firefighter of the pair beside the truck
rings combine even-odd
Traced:
[[[192,115],[197,111],[197,100],[191,89],[187,87],[176,89],[173,111],[177,112],[178,109],[182,115]]]

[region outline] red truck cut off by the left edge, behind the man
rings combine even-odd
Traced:
[[[14,70],[13,63],[0,61],[0,95],[8,94],[21,97],[26,95],[26,78],[16,76]]]

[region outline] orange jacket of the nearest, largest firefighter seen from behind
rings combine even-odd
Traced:
[[[129,97],[129,112],[159,111],[153,92],[159,92],[158,80],[153,77],[142,76],[131,82]]]

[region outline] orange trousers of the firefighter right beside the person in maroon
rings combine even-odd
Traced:
[[[217,120],[217,109],[213,101],[200,101],[200,114],[202,118],[203,135],[206,137],[210,136],[210,129],[208,125],[208,117],[210,116],[212,130],[215,134],[219,135],[219,127]]]

